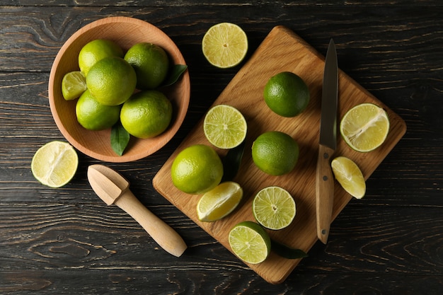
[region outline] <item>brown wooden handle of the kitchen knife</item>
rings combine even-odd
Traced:
[[[316,170],[316,219],[317,236],[325,244],[328,241],[334,202],[334,178],[330,168],[333,154],[333,149],[320,145]]]

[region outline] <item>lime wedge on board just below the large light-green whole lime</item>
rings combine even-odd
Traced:
[[[197,216],[201,221],[216,221],[236,209],[243,197],[243,189],[238,183],[220,183],[205,192],[197,204]]]

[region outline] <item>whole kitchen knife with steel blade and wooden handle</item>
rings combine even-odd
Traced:
[[[321,94],[320,140],[316,167],[317,237],[326,244],[334,201],[334,179],[330,161],[337,146],[338,62],[335,43],[330,39],[326,52]]]

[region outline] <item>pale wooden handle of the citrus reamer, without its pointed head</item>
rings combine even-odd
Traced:
[[[130,190],[126,190],[115,204],[130,214],[166,252],[176,257],[185,252],[187,245],[183,238],[164,221],[149,211]]]

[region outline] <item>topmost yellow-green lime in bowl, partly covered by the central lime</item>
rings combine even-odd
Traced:
[[[89,69],[100,59],[105,57],[123,57],[122,48],[112,40],[96,39],[92,40],[79,52],[80,71],[86,76]]]

